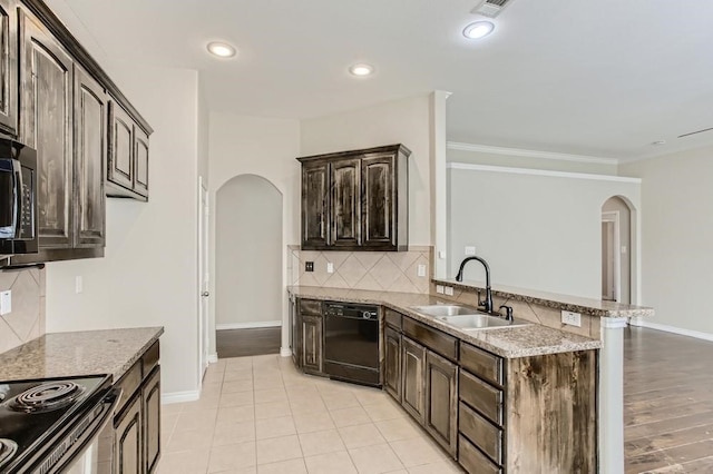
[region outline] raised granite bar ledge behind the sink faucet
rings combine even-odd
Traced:
[[[456,282],[451,278],[432,278],[436,285],[452,286],[462,290],[485,290],[482,282]],[[654,315],[654,308],[648,306],[636,306],[624,303],[605,302],[594,298],[584,298],[572,295],[559,295],[556,293],[539,292],[535,289],[515,288],[505,285],[492,285],[492,295],[516,302],[531,303],[546,306],[553,309],[582,313],[597,317],[649,317]],[[448,296],[443,296],[448,298]]]

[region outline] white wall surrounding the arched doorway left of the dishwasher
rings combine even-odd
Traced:
[[[256,175],[267,179],[283,196],[282,251],[300,241],[300,122],[297,120],[245,117],[235,113],[211,112],[211,201],[217,189],[240,175]],[[215,213],[211,215],[211,280],[215,286]],[[287,268],[283,265],[282,285],[287,284]],[[215,290],[213,287],[212,290]],[[284,292],[283,292],[284,293]],[[216,295],[217,296],[217,295]],[[286,293],[282,314],[287,317]],[[211,314],[215,315],[215,298],[211,299]],[[286,320],[286,319],[284,319]],[[213,316],[212,329],[215,330]],[[289,346],[287,324],[283,324],[283,346]],[[211,353],[215,353],[215,346]]]

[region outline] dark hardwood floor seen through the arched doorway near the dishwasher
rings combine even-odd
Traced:
[[[281,327],[215,332],[218,358],[280,354]]]

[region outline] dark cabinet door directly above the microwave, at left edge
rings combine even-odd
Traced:
[[[18,20],[14,0],[0,0],[0,130],[18,129]]]

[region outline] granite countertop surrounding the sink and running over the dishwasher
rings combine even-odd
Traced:
[[[411,306],[452,304],[452,300],[432,295],[395,292],[370,292],[363,289],[321,288],[292,286],[287,290],[300,298],[342,303],[362,303],[391,308],[428,326],[442,330],[494,354],[506,358],[529,357],[545,354],[598,349],[602,342],[553,329],[535,323],[524,326],[497,327],[480,330],[460,330],[433,317],[410,309]]]

